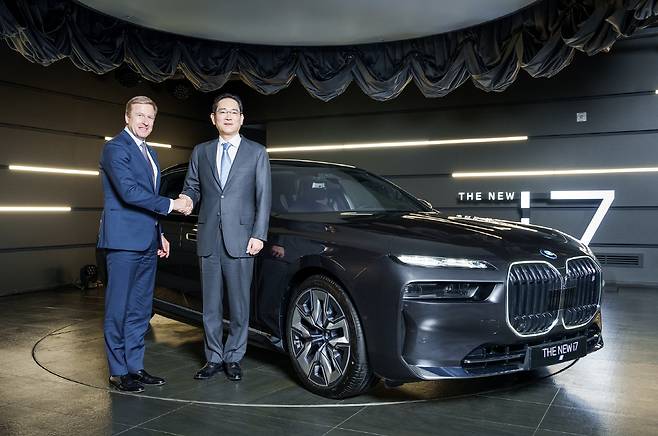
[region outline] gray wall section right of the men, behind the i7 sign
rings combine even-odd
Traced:
[[[386,142],[528,135],[521,143],[388,150],[288,152],[272,157],[354,164],[385,175],[450,214],[520,220],[520,191],[532,192],[532,223],[580,237],[598,202],[542,199],[552,190],[615,190],[616,198],[591,246],[597,253],[639,255],[640,267],[606,267],[608,282],[658,283],[658,173],[497,179],[453,179],[456,171],[658,166],[658,37],[619,42],[609,54],[577,55],[551,79],[523,72],[504,93],[466,84],[425,99],[410,85],[390,102],[368,100],[352,86],[327,104],[299,86],[262,98],[256,118],[268,146]],[[577,112],[588,121],[576,122]],[[464,203],[464,191],[511,191],[514,202]]]

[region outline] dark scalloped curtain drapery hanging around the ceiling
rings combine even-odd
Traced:
[[[297,77],[327,101],[351,82],[375,100],[396,97],[413,81],[442,97],[470,79],[502,91],[519,69],[551,77],[576,50],[596,54],[658,20],[658,0],[543,0],[468,29],[413,40],[337,47],[280,47],[207,41],[139,27],[74,1],[0,0],[0,36],[31,62],[68,57],[104,74],[124,62],[154,82],[182,72],[202,91],[238,74],[263,94]]]

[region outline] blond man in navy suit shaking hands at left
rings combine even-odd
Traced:
[[[106,249],[105,350],[110,384],[127,392],[165,380],[144,370],[144,336],[151,318],[157,256],[169,256],[158,215],[187,212],[182,199],[158,195],[160,166],[145,140],[158,108],[148,97],[126,104],[126,127],[103,147],[104,209],[98,247]]]

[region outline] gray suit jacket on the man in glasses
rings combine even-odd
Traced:
[[[217,174],[218,144],[215,139],[194,147],[183,187],[183,194],[195,205],[201,201],[197,255],[213,253],[221,224],[228,253],[249,257],[249,238],[267,240],[272,203],[270,160],[265,147],[243,136],[222,190]]]

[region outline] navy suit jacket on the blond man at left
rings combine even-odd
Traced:
[[[98,235],[98,247],[143,251],[153,242],[158,215],[167,215],[170,200],[158,195],[160,165],[149,147],[157,167],[153,186],[153,169],[146,162],[132,137],[122,130],[103,147],[100,170],[105,197]]]

